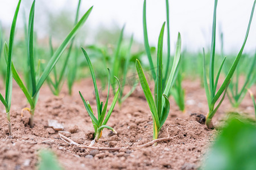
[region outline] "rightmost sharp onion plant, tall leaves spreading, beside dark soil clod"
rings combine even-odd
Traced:
[[[222,101],[224,100],[227,88],[229,86],[230,79],[232,78],[234,71],[236,70],[236,67],[238,65],[238,62],[240,61],[243,48],[245,47],[246,40],[249,34],[250,30],[250,25],[251,25],[251,20],[253,19],[253,12],[255,8],[255,3],[253,3],[253,9],[251,10],[251,15],[250,15],[250,21],[247,27],[247,32],[245,35],[245,40],[243,41],[242,48],[240,49],[240,52],[238,53],[236,59],[234,60],[232,66],[230,67],[228,74],[226,75],[226,78],[224,79],[224,82],[221,84],[221,87],[217,90],[217,83],[218,83],[218,78],[221,73],[222,66],[224,65],[226,57],[221,62],[220,68],[218,69],[218,73],[216,75],[216,79],[214,81],[214,56],[215,56],[215,37],[216,37],[216,10],[217,10],[217,0],[214,2],[214,13],[213,13],[213,24],[212,24],[212,44],[210,48],[210,65],[209,65],[209,86],[208,86],[208,80],[207,80],[207,75],[206,75],[206,64],[205,64],[205,52],[203,49],[204,53],[204,63],[203,63],[203,68],[204,68],[204,88],[205,88],[205,93],[207,95],[207,101],[208,101],[208,108],[209,111],[206,116],[206,121],[205,124],[209,129],[213,129],[213,124],[212,124],[212,117],[214,114],[217,112],[218,108],[220,107]],[[223,95],[222,95],[223,94]],[[215,104],[217,100],[220,98],[222,95],[219,103],[217,104],[216,107]]]

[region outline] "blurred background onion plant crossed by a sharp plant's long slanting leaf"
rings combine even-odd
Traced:
[[[75,25],[77,24],[78,19],[79,19],[80,4],[81,4],[81,0],[79,0],[79,3],[77,5]],[[51,76],[48,76],[48,78],[46,79],[47,84],[48,84],[50,90],[52,91],[53,95],[59,96],[61,88],[63,87],[64,81],[65,81],[64,77],[65,77],[65,73],[67,72],[67,69],[68,69],[68,61],[71,56],[71,51],[72,51],[72,46],[73,46],[74,40],[75,40],[75,37],[73,37],[73,39],[71,40],[71,44],[69,46],[67,56],[63,63],[62,69],[60,70],[60,75],[59,76],[57,75],[56,67],[54,67],[53,68],[53,79],[51,78]],[[51,56],[53,56],[53,47],[52,47],[51,38],[49,39],[49,45],[50,45]],[[69,88],[71,88],[71,87],[69,86]]]

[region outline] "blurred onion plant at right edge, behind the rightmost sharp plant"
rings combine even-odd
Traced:
[[[243,83],[242,88],[240,90],[238,90],[238,84],[241,82],[240,81],[241,69],[239,67],[240,65],[237,66],[236,79],[232,79],[229,84],[227,95],[228,95],[230,103],[235,108],[237,108],[241,104],[243,98],[245,97],[246,88],[250,88],[253,85],[253,77],[255,76],[255,74],[254,74],[255,68],[254,67],[256,64],[256,53],[255,53],[254,58],[249,58],[249,61],[251,63],[249,64],[249,70],[246,73],[245,82]],[[248,63],[246,63],[245,66],[248,66],[247,64]],[[242,70],[245,71],[246,68],[242,69]]]

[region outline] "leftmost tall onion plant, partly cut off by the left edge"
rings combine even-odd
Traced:
[[[2,96],[2,94],[0,94],[0,100],[1,100],[2,104],[5,105],[9,135],[12,135],[10,109],[11,109],[11,94],[12,94],[12,90],[13,90],[13,74],[11,72],[11,59],[13,56],[14,34],[15,34],[15,27],[16,27],[16,21],[17,21],[17,17],[18,17],[18,13],[19,13],[20,3],[21,3],[21,0],[19,0],[19,2],[18,2],[16,11],[14,14],[14,18],[13,18],[13,23],[11,24],[9,45],[7,45],[7,43],[5,42],[5,59],[6,59],[6,63],[7,63],[5,98]]]

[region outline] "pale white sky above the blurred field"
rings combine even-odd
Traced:
[[[36,10],[42,6],[50,11],[60,11],[63,8],[75,13],[78,0],[37,0]],[[217,6],[217,40],[216,48],[220,49],[220,28],[224,32],[224,50],[226,53],[238,53],[245,37],[254,0],[219,0]],[[0,20],[5,27],[10,28],[18,0],[0,0]],[[22,7],[30,7],[31,0],[23,0]],[[177,33],[181,33],[182,48],[192,52],[209,47],[211,40],[214,0],[169,0],[171,51]],[[98,25],[111,27],[117,23],[121,28],[126,23],[125,34],[134,33],[134,38],[143,42],[142,10],[143,0],[82,0],[81,14],[90,6],[93,11],[88,21],[90,31]],[[147,0],[147,27],[150,45],[157,44],[160,28],[166,20],[166,1]],[[28,13],[28,11],[26,11]],[[42,15],[42,12],[40,13]],[[256,50],[256,10],[247,43],[246,52]],[[81,15],[80,15],[81,16]],[[43,23],[43,16],[35,16],[35,25]],[[19,15],[18,27],[23,27],[22,15]],[[38,32],[40,34],[40,32]],[[44,35],[45,33],[42,33]],[[167,35],[167,31],[165,32]],[[166,45],[166,41],[164,42]]]

